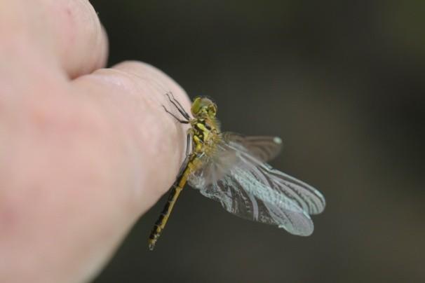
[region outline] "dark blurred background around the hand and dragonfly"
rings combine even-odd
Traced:
[[[425,282],[425,1],[91,3],[109,64],[149,62],[224,130],[282,137],[272,165],[328,202],[297,237],[187,188],[155,251],[165,198],[95,282]]]

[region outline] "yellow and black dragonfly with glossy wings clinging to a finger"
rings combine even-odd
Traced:
[[[313,233],[310,215],[323,212],[325,198],[316,188],[267,164],[281,151],[279,137],[221,132],[217,105],[212,99],[196,97],[191,104],[191,117],[172,92],[166,96],[182,117],[163,106],[166,112],[190,127],[186,158],[149,235],[150,250],[154,249],[187,183],[243,219],[278,226],[293,235]]]

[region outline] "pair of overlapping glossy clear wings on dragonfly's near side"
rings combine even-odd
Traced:
[[[201,157],[203,167],[191,175],[189,184],[237,216],[274,224],[295,235],[310,235],[313,222],[309,212],[323,210],[323,196],[311,186],[265,165],[229,137],[234,134],[223,134],[214,156]],[[316,203],[309,200],[311,195],[320,200],[318,204],[310,203]]]

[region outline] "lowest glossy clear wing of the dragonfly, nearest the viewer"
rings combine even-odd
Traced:
[[[244,219],[274,224],[295,235],[313,233],[313,222],[306,212],[241,167],[232,168],[226,177],[200,191]]]

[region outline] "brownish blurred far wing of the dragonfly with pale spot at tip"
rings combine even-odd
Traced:
[[[223,139],[241,144],[252,156],[260,161],[272,160],[282,150],[282,139],[270,136],[244,136],[234,132],[224,132]]]

